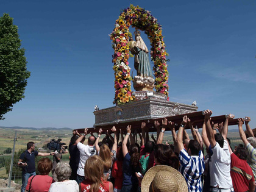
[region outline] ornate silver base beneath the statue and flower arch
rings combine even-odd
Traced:
[[[194,105],[166,101],[163,95],[152,93],[152,91],[136,91],[134,95],[137,100],[135,102],[94,111],[95,124],[93,126],[182,115],[196,112],[198,109]]]

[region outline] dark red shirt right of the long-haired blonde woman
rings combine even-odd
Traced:
[[[114,188],[121,190],[123,186],[123,162],[116,160],[112,167],[112,177],[115,178]]]

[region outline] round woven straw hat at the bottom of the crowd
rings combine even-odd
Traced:
[[[149,169],[141,182],[141,192],[188,192],[188,185],[179,171],[166,165]]]

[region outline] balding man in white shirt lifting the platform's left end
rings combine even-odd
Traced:
[[[77,169],[77,177],[76,182],[79,184],[85,179],[85,162],[87,159],[93,155],[96,155],[96,149],[94,146],[94,143],[96,141],[94,136],[90,136],[88,138],[88,145],[85,145],[81,143],[82,140],[84,140],[85,135],[87,135],[88,128],[85,129],[84,135],[79,134],[77,131],[77,135],[79,135],[79,138],[76,140],[77,149],[80,152],[80,160],[79,165]]]

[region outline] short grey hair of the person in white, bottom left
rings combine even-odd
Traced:
[[[69,179],[69,177],[71,176],[70,165],[65,162],[59,162],[55,169],[55,174],[57,175],[57,179],[59,182]]]

